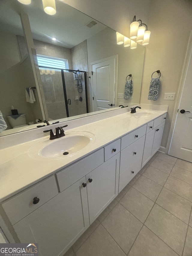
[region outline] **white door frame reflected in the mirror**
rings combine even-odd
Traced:
[[[117,74],[118,74],[118,70],[117,70],[117,67],[118,67],[118,54],[116,55],[113,55],[113,56],[110,56],[110,57],[107,57],[107,58],[104,58],[104,59],[99,59],[97,61],[94,61],[94,62],[91,62],[90,63],[90,70],[91,70],[91,93],[90,93],[90,99],[91,99],[91,102],[90,102],[90,106],[91,106],[91,112],[94,110],[94,103],[93,103],[93,76],[92,76],[92,65],[95,65],[99,62],[103,62],[103,61],[106,61],[106,60],[110,60],[110,59],[115,59],[115,92],[114,92],[114,104],[116,106],[116,103],[117,103]],[[114,106],[114,107],[115,107]]]

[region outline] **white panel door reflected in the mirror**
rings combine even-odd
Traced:
[[[113,108],[115,104],[116,58],[91,64],[93,111]],[[111,106],[112,105],[112,106]]]

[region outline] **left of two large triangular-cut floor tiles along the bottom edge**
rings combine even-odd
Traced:
[[[76,256],[126,256],[100,224],[76,252]]]

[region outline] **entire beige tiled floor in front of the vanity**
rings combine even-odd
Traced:
[[[192,256],[192,163],[157,152],[64,256]]]

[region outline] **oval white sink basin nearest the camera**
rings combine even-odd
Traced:
[[[85,131],[66,132],[64,137],[37,143],[28,154],[32,158],[60,159],[76,154],[95,141],[95,135]]]

